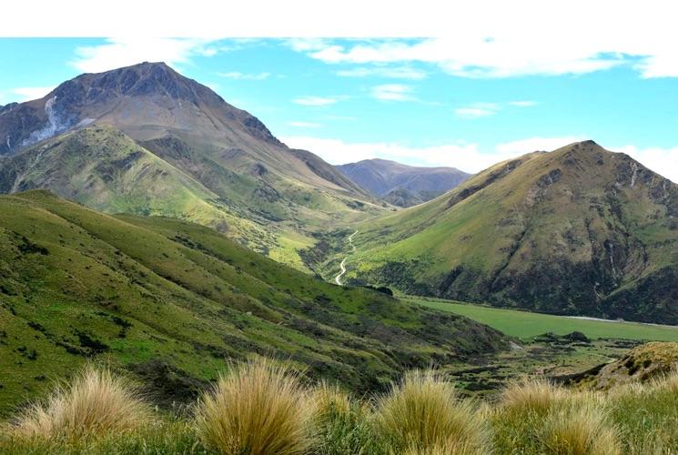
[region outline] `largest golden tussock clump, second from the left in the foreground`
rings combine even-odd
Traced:
[[[299,454],[309,447],[312,415],[299,375],[255,360],[234,366],[202,396],[197,432],[225,454]]]

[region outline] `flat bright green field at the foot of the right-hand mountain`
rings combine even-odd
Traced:
[[[577,330],[591,339],[678,341],[678,327],[651,326],[637,322],[572,319],[518,309],[483,307],[439,298],[405,296],[403,299],[428,308],[466,316],[519,339],[532,339],[546,332],[565,335]]]

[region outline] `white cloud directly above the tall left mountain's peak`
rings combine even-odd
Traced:
[[[186,64],[192,56],[214,56],[218,49],[203,39],[110,38],[103,45],[76,48],[71,63],[86,73],[100,73],[141,62],[165,62],[169,66]]]

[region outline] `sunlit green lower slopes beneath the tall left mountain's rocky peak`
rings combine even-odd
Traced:
[[[107,213],[185,219],[300,269],[306,265],[298,250],[313,243],[312,232],[338,218],[359,219],[379,210],[263,165],[258,165],[263,175],[253,175],[245,168],[256,167],[250,159],[232,171],[211,155],[215,147],[197,153],[177,137],[144,145],[113,126],[67,132],[0,158],[0,192],[48,188]]]

